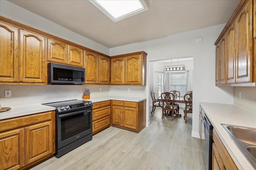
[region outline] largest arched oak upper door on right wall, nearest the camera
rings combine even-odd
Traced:
[[[248,1],[236,18],[236,83],[253,81],[252,1]]]

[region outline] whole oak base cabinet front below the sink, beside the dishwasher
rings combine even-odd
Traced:
[[[213,129],[212,170],[238,170],[228,150]]]

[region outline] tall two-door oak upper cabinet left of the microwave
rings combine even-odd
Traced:
[[[0,33],[1,84],[46,84],[46,37],[2,20]]]

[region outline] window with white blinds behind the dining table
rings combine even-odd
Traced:
[[[180,92],[180,97],[186,94],[187,74],[170,74],[170,91],[176,90]]]

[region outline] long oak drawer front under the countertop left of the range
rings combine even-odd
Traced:
[[[52,119],[52,111],[0,121],[0,132]]]

